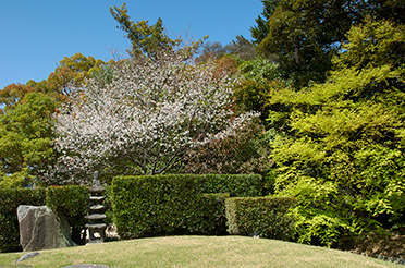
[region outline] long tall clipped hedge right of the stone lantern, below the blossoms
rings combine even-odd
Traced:
[[[112,184],[114,222],[123,239],[225,232],[225,197],[261,193],[260,175],[116,176]],[[222,210],[221,210],[222,209]],[[222,215],[222,216],[221,216]]]

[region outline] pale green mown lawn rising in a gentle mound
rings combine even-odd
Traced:
[[[24,253],[1,253],[0,267],[404,267],[346,252],[242,236],[167,236]]]

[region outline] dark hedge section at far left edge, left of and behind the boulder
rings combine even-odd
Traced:
[[[45,205],[45,188],[0,188],[0,252],[21,251],[17,207]]]

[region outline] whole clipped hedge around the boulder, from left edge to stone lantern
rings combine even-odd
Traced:
[[[84,226],[87,214],[88,192],[86,186],[60,186],[48,188],[0,188],[0,252],[22,251],[20,245],[20,205],[47,205],[57,214],[63,212],[72,226],[72,236]],[[7,230],[7,231],[4,231]],[[79,243],[81,240],[74,240]]]

